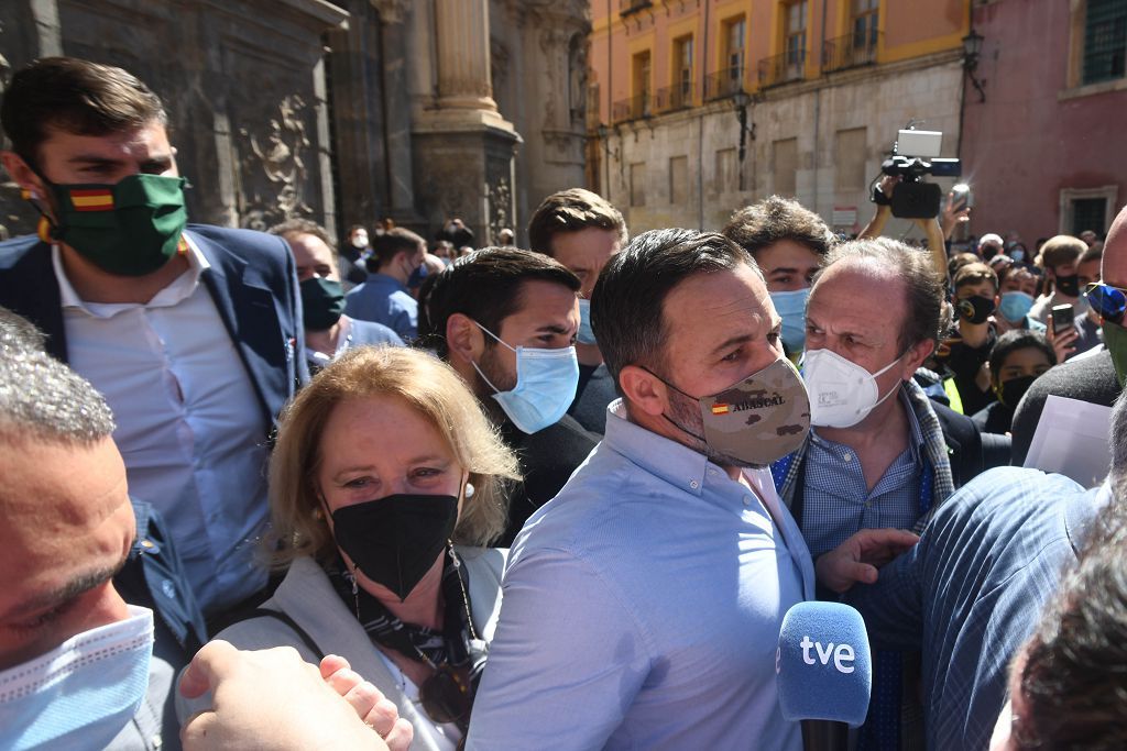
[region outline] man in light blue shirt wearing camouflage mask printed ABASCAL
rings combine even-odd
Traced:
[[[790,368],[763,277],[722,235],[647,232],[607,263],[592,321],[623,397],[513,546],[467,748],[798,749],[775,645],[814,570],[765,465],[808,415],[727,450],[708,417],[805,410],[792,369],[756,406],[719,399]],[[914,539],[861,544],[879,535]]]

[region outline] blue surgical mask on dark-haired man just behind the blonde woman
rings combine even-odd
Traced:
[[[531,435],[559,422],[575,401],[575,392],[579,386],[579,360],[576,358],[575,347],[514,348],[480,323],[478,328],[516,352],[516,387],[512,391],[498,390],[478,364],[473,363],[478,375],[497,392],[494,399],[513,424]]]

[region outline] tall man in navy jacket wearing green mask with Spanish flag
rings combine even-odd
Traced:
[[[0,159],[42,218],[0,244],[0,305],[106,397],[130,491],[215,617],[266,583],[267,437],[308,370],[285,242],[187,224],[167,120],[119,68],[47,57],[12,77]]]

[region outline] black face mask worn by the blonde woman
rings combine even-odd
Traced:
[[[454,495],[399,493],[332,512],[337,546],[400,601],[438,560],[456,521]]]

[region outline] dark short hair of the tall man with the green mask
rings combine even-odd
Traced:
[[[132,73],[78,57],[44,57],[17,72],[0,105],[12,151],[32,166],[48,128],[78,135],[167,125],[160,97]]]

